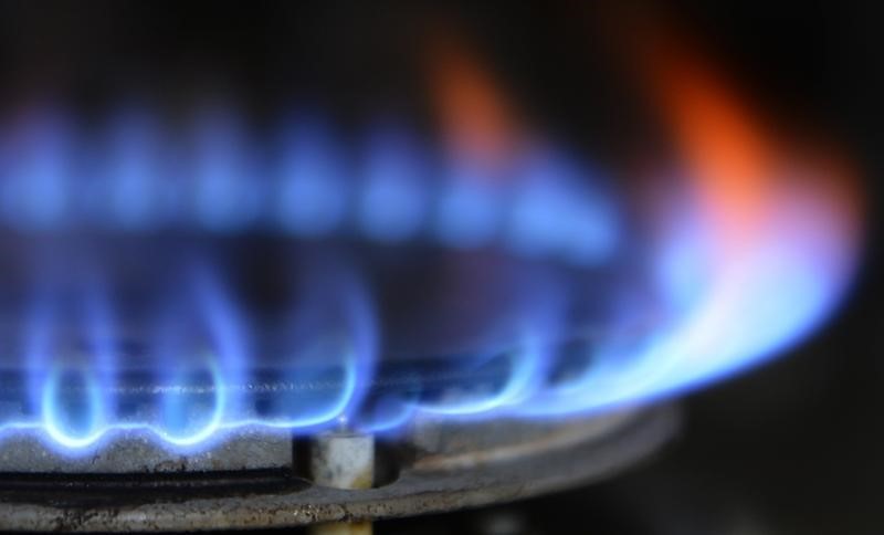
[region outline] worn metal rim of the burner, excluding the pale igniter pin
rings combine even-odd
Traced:
[[[656,452],[678,423],[674,406],[560,421],[419,421],[379,443],[376,484],[358,491],[312,483],[297,447],[287,470],[7,473],[0,528],[235,529],[454,511],[603,479]]]

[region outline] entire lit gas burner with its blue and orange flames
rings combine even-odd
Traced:
[[[608,84],[610,125],[634,108],[597,144],[520,107],[459,17],[336,12],[326,35],[276,9],[253,29],[280,51],[229,43],[274,71],[241,86],[75,91],[130,72],[114,42],[76,75],[62,46],[57,80],[0,62],[0,527],[365,532],[594,481],[851,283],[850,167],[660,18],[612,10],[624,65],[570,91]]]

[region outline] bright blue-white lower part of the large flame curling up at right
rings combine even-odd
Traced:
[[[792,219],[794,199],[739,262],[709,272],[704,232],[678,233],[673,258],[688,273],[702,273],[697,291],[660,264],[666,319],[635,336],[610,336],[587,348],[589,366],[577,378],[519,408],[530,417],[592,412],[634,405],[698,388],[782,352],[807,336],[835,307],[853,266],[850,240],[825,231],[836,227],[822,211]],[[685,248],[693,248],[691,252]],[[670,258],[667,254],[663,259]]]

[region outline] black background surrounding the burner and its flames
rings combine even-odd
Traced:
[[[360,120],[376,105],[420,117],[425,103],[415,96],[403,43],[425,28],[409,22],[452,17],[477,35],[490,64],[538,123],[601,160],[617,160],[631,135],[623,126],[630,112],[608,105],[618,98],[617,84],[592,83],[610,67],[603,54],[588,53],[588,66],[577,63],[583,55],[577,43],[592,25],[581,25],[581,17],[591,19],[596,9],[573,2],[2,2],[0,111],[40,92],[63,94],[86,111],[133,92],[175,108],[188,95],[224,86],[249,103],[257,122],[293,91],[328,103],[343,122]],[[787,357],[685,399],[681,439],[652,462],[590,489],[381,523],[380,533],[491,533],[488,526],[499,527],[495,518],[522,529],[502,533],[884,531],[883,10],[876,2],[696,1],[662,11],[772,105],[812,117],[846,147],[865,181],[869,214],[851,294],[832,322]],[[411,31],[401,30],[403,22]],[[390,28],[400,29],[394,39]],[[389,54],[379,61],[382,51]]]

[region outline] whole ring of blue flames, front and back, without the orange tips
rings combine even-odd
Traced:
[[[439,364],[386,359],[387,318],[375,310],[371,270],[354,261],[286,272],[297,291],[285,296],[282,317],[267,318],[236,294],[224,262],[197,248],[198,261],[151,310],[156,317],[138,324],[156,326],[139,333],[148,338],[141,355],[120,342],[128,317],[101,271],[65,274],[62,259],[19,314],[21,361],[3,365],[21,365],[27,394],[18,412],[3,412],[2,436],[36,431],[60,451],[82,454],[137,431],[192,451],[243,428],[312,432],[346,419],[387,433],[418,418],[608,410],[699,387],[782,352],[831,313],[853,268],[839,216],[824,199],[796,191],[777,198],[777,210],[728,256],[688,195],[665,223],[652,221],[653,238],[636,237],[624,222],[623,192],[551,144],[490,169],[434,158],[404,126],[387,125],[351,157],[329,125],[301,115],[271,128],[265,154],[230,106],[203,112],[172,136],[133,105],[93,143],[56,109],[25,115],[0,137],[3,223],[51,238],[53,229],[94,225],[127,237],[349,233],[409,253],[407,245],[425,242],[442,251],[498,248],[533,268],[556,260],[548,263],[556,269],[530,271],[501,317],[483,318],[480,338],[493,343]],[[446,256],[440,269],[459,259]],[[624,269],[634,259],[640,265]],[[286,268],[286,259],[271,262]],[[505,276],[478,262],[456,268],[481,280]],[[72,279],[74,291],[65,287]],[[150,376],[150,387],[124,392],[122,377],[131,370]]]

